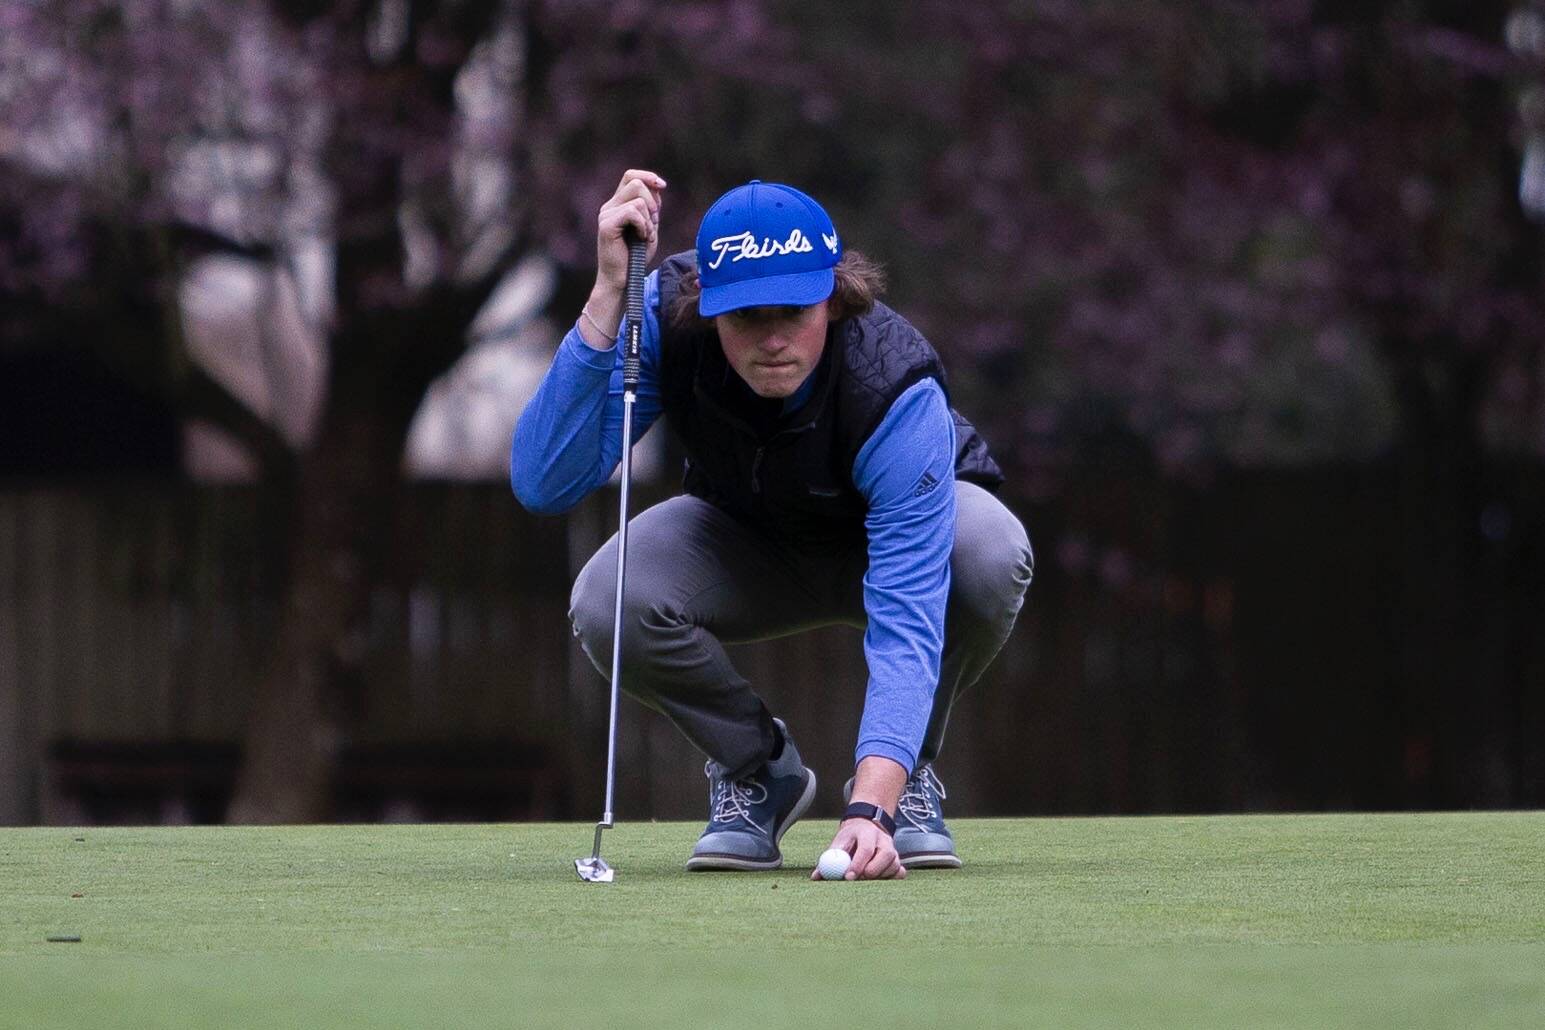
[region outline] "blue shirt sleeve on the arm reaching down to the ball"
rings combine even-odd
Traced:
[[[935,380],[908,388],[853,462],[868,499],[864,656],[868,690],[856,761],[918,763],[944,649],[955,548],[955,422]]]

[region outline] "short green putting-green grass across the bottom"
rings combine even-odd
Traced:
[[[581,825],[0,831],[0,1027],[1545,1025],[1545,814],[958,820],[811,883],[831,829],[624,825],[612,885]]]

